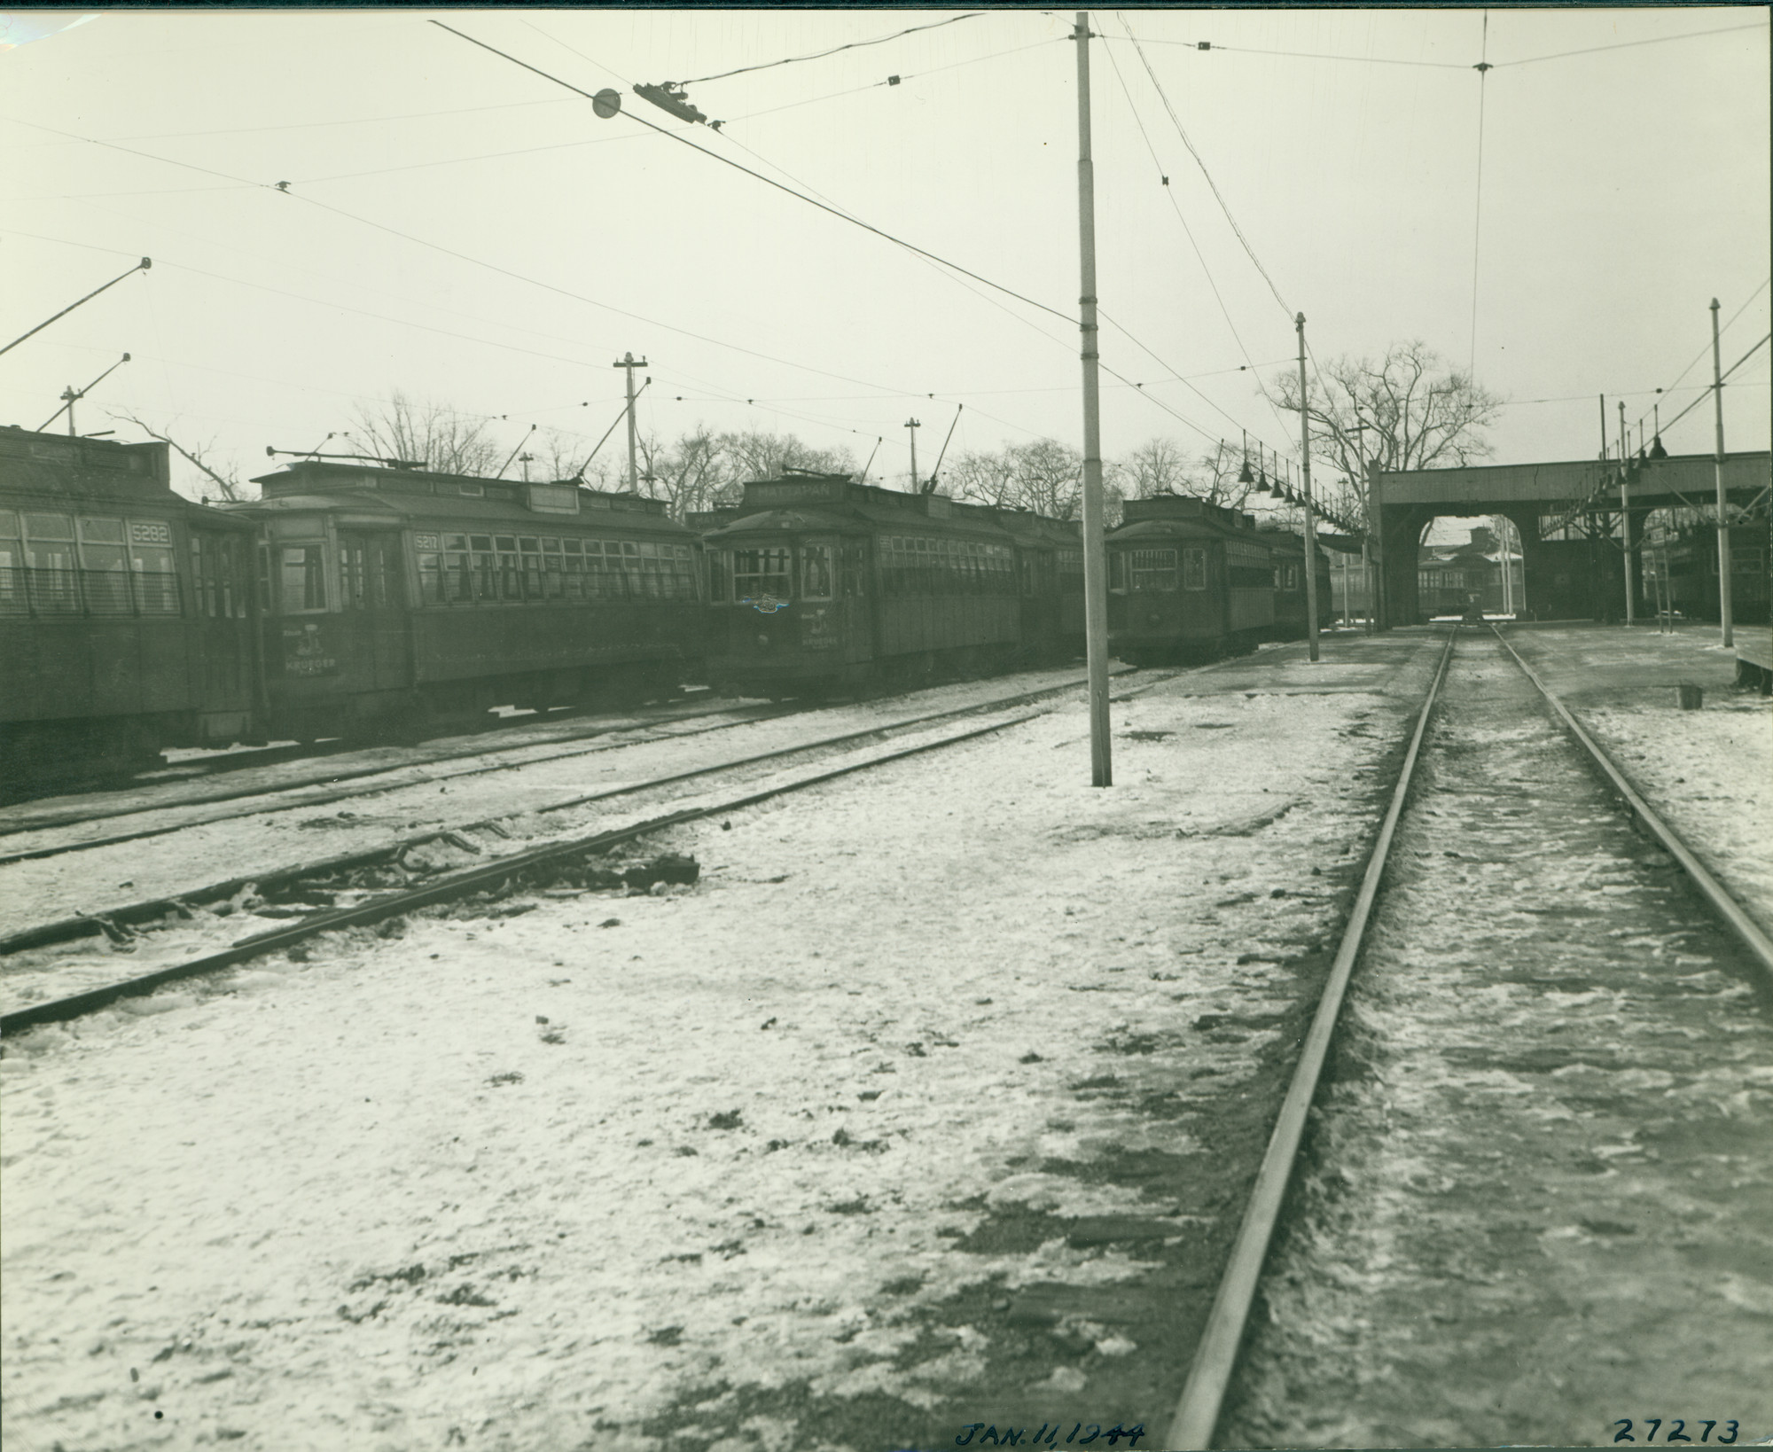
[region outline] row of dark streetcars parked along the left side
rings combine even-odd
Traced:
[[[1078,525],[1027,511],[816,473],[688,525],[580,484],[321,459],[255,482],[199,505],[161,443],[0,427],[9,791],[168,746],[404,738],[690,679],[812,697],[1083,649]],[[1246,514],[1129,502],[1108,564],[1128,660],[1303,633],[1303,548]]]

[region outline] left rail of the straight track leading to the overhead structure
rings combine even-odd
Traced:
[[[1367,872],[1349,909],[1347,925],[1342,929],[1342,943],[1337,947],[1335,959],[1330,964],[1330,977],[1324,980],[1323,995],[1317,1000],[1312,1027],[1305,1034],[1305,1046],[1300,1050],[1300,1060],[1293,1069],[1287,1097],[1280,1105],[1268,1149],[1255,1172],[1255,1184],[1245,1206],[1243,1223],[1238,1227],[1236,1241],[1232,1241],[1230,1259],[1220,1278],[1218,1294],[1213,1298],[1213,1310],[1207,1312],[1206,1330],[1195,1346],[1188,1381],[1183,1385],[1183,1395],[1177,1401],[1175,1417],[1163,1443],[1170,1452],[1195,1452],[1195,1448],[1213,1445],[1213,1429],[1218,1424],[1220,1406],[1225,1401],[1225,1390],[1238,1365],[1238,1351],[1243,1346],[1245,1326],[1250,1319],[1250,1303],[1255,1298],[1262,1262],[1268,1259],[1275,1223],[1287,1197],[1293,1163],[1305,1136],[1305,1120],[1310,1113],[1312,1099],[1317,1096],[1317,1081],[1330,1053],[1337,1018],[1342,1012],[1349,975],[1355,970],[1355,959],[1360,956],[1362,936],[1372,917],[1374,899],[1379,895],[1392,837],[1397,831],[1397,819],[1402,816],[1404,801],[1410,796],[1417,759],[1422,753],[1422,738],[1427,732],[1429,714],[1440,695],[1441,681],[1447,679],[1447,663],[1452,660],[1452,647],[1457,635],[1457,626],[1447,633],[1447,647],[1441,651],[1434,679],[1429,683],[1422,709],[1417,714],[1417,729],[1410,738],[1410,748],[1404,752],[1397,785],[1392,789],[1392,803],[1374,840],[1372,856],[1367,860]]]

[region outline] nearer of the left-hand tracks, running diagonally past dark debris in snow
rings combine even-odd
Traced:
[[[1124,691],[1119,699],[1151,690],[1152,686],[1161,684],[1161,681],[1170,679],[1172,674],[1174,672],[1142,675],[1140,684],[1131,691]],[[1041,700],[1074,690],[1076,684],[1078,683],[1067,683],[1037,691],[1023,691],[1014,697],[986,704],[966,704],[947,711],[886,722],[863,730],[801,741],[769,752],[715,762],[711,766],[654,777],[644,782],[629,782],[594,792],[578,792],[567,800],[532,808],[527,816],[564,812],[622,796],[644,796],[647,792],[658,792],[684,782],[746,771],[750,768],[768,766],[791,757],[821,755],[844,750],[862,752],[853,761],[844,761],[828,768],[816,766],[816,769],[805,771],[793,780],[773,784],[761,791],[748,791],[738,796],[722,798],[715,803],[645,817],[638,823],[624,824],[613,830],[590,833],[569,831],[560,839],[550,839],[532,847],[504,851],[486,862],[468,867],[443,865],[427,869],[424,865],[417,865],[411,853],[433,844],[445,844],[456,847],[457,853],[466,851],[473,855],[480,855],[488,847],[496,849],[496,844],[511,840],[511,835],[504,826],[500,826],[500,819],[489,817],[450,830],[424,831],[369,851],[323,858],[319,862],[248,876],[236,876],[172,897],[149,899],[144,902],[112,908],[108,911],[80,913],[71,918],[59,918],[55,922],[27,927],[0,940],[0,957],[16,957],[18,954],[53,948],[83,938],[103,938],[110,948],[122,948],[126,952],[135,952],[138,940],[142,943],[152,943],[156,948],[154,957],[161,961],[147,972],[129,975],[117,975],[113,966],[115,956],[112,952],[105,952],[96,961],[87,963],[62,961],[46,964],[44,972],[59,982],[55,996],[25,1003],[0,1014],[0,1034],[14,1034],[41,1023],[60,1023],[80,1018],[82,1014],[94,1012],[96,1009],[106,1007],[119,998],[138,996],[168,982],[232,968],[262,954],[287,950],[289,947],[300,945],[309,938],[319,936],[321,933],[339,931],[344,927],[374,925],[388,918],[402,917],[404,913],[418,908],[434,906],[438,902],[488,890],[498,890],[500,895],[505,895],[516,883],[535,878],[537,874],[546,876],[550,872],[560,872],[587,856],[610,853],[615,847],[626,846],[651,833],[665,831],[683,823],[736,812],[769,798],[803,791],[855,771],[865,771],[874,766],[902,761],[904,757],[941,750],[943,746],[959,745],[979,736],[1005,730],[1012,725],[1019,725],[1021,722],[1034,720],[1043,714],[1043,711],[1007,714],[979,727],[945,732],[934,739],[917,741],[915,745],[899,750],[867,752],[869,743],[936,727],[938,723],[950,722],[957,716],[970,718],[982,713],[1016,713],[1019,707],[1035,706]],[[470,833],[480,833],[480,840],[475,840]],[[348,897],[349,902],[346,906],[316,906],[312,902],[314,897]],[[262,933],[216,945],[215,940],[227,933],[225,924],[229,924],[238,911],[250,913],[252,908],[259,908],[266,915],[294,917],[296,920],[287,922],[282,927],[271,927]],[[176,963],[165,963],[163,959],[170,954],[177,954],[181,945],[193,945],[197,948],[195,956],[183,957]],[[14,972],[11,977],[18,979],[20,973]],[[60,988],[60,984],[67,979],[73,979],[78,984],[74,991],[64,991]]]

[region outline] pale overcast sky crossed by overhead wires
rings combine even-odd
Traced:
[[[106,417],[129,408],[243,475],[392,388],[502,415],[511,443],[535,422],[589,449],[633,351],[654,379],[642,427],[665,438],[793,431],[860,461],[885,436],[872,473],[897,482],[904,420],[927,472],[956,404],[956,450],[1082,441],[1069,11],[436,12],[619,89],[610,121],[424,11],[99,12],[43,34],[76,14],[5,20],[23,43],[0,53],[0,346],[154,266],[0,358],[0,422],[37,427],[128,351],[80,431],[138,438]],[[1725,367],[1769,328],[1766,7],[1092,25],[1110,457],[1241,429],[1296,456],[1248,372],[1289,363],[1296,310],[1321,362],[1401,339],[1472,362],[1509,399],[1504,463],[1592,457],[1603,392],[1610,422],[1615,397],[1649,417],[1656,388],[1677,413],[1711,376],[1711,298]],[[660,80],[697,80],[723,129],[629,89]],[[1732,449],[1768,447],[1769,351],[1725,390]],[[1709,404],[1665,441],[1707,452]]]

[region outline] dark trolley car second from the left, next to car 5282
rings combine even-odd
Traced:
[[[695,539],[661,500],[298,461],[259,528],[269,730],[404,736],[693,674]]]

